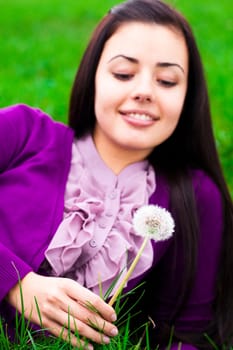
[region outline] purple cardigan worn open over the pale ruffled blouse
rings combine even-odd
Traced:
[[[73,131],[38,109],[15,105],[0,110],[0,313],[1,301],[29,271],[37,271],[63,217]],[[183,331],[199,331],[212,318],[222,236],[217,187],[193,173],[200,220],[198,273],[193,292],[177,319]],[[166,183],[157,178],[151,203],[169,208]],[[177,233],[176,233],[177,234]],[[174,303],[173,240],[154,246],[154,317],[166,319]],[[179,259],[179,252],[178,252]],[[157,264],[159,262],[159,264]],[[177,271],[176,281],[181,278]]]

